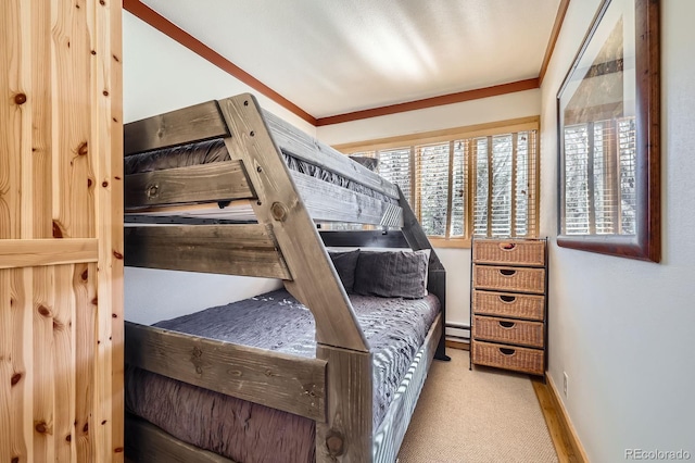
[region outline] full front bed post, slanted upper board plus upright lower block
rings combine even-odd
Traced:
[[[371,460],[371,354],[352,304],[330,263],[261,108],[252,95],[218,101],[257,200],[260,224],[273,227],[292,280],[286,288],[314,314],[316,356],[328,361],[327,416],[316,423],[318,462]]]

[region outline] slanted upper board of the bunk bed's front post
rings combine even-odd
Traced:
[[[367,341],[348,295],[270,137],[256,99],[239,95],[220,100],[219,107],[235,134],[225,139],[227,150],[247,166],[258,198],[252,203],[253,211],[258,223],[273,226],[295,278],[285,286],[312,311],[317,341],[366,352]]]

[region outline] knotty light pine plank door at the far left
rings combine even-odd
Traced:
[[[2,461],[122,461],[121,9],[0,4]]]

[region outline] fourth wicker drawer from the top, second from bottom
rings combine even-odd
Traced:
[[[543,323],[477,315],[473,338],[542,348]]]

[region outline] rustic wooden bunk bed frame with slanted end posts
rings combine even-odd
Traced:
[[[432,359],[448,360],[445,271],[427,236],[396,186],[263,111],[252,95],[127,124],[125,157],[214,139],[229,160],[126,175],[125,263],[280,278],[311,310],[316,358],[126,322],[126,363],[315,421],[317,462],[395,461]],[[340,185],[288,168],[288,157],[338,175]],[[318,222],[389,230],[320,232]],[[327,246],[431,250],[427,289],[441,312],[377,428],[372,355]],[[230,461],[131,415],[126,456]]]

